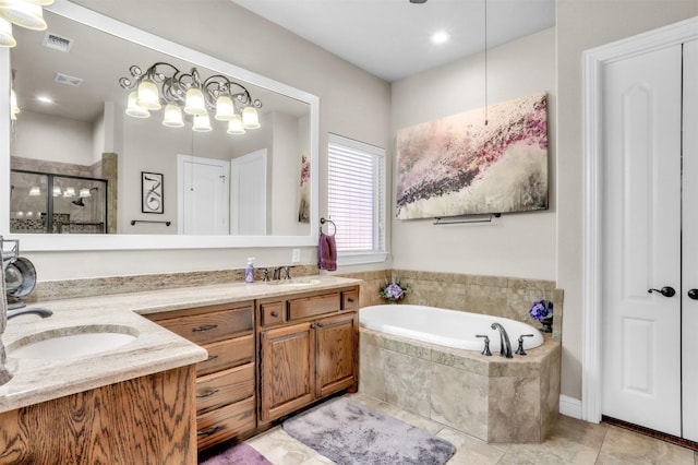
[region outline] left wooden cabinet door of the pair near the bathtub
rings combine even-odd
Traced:
[[[262,422],[313,401],[315,324],[299,323],[260,333]]]

